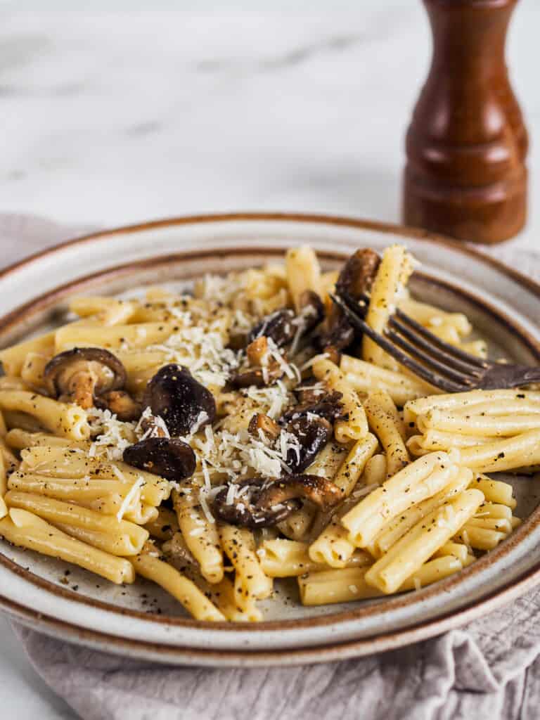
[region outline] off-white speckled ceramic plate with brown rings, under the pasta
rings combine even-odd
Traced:
[[[73,294],[120,293],[258,265],[310,243],[327,268],[359,246],[405,243],[421,261],[415,295],[466,312],[493,356],[540,361],[540,286],[450,240],[396,225],[312,215],[213,215],[88,235],[0,273],[0,345],[63,320]],[[540,582],[536,482],[513,480],[523,525],[454,577],[415,593],[302,608],[294,581],[276,583],[264,623],[204,624],[150,583],[117,587],[0,541],[0,608],[35,629],[109,652],[192,665],[289,665],[339,660],[439,634]]]

